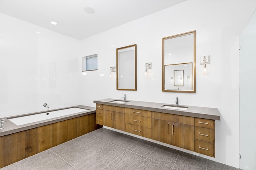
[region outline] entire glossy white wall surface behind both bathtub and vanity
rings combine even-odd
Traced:
[[[121,98],[218,108],[216,158],[239,167],[239,34],[255,0],[188,0],[82,41],[0,14],[0,116]],[[196,30],[196,93],[161,90],[162,37]],[[40,31],[38,35],[35,31]],[[116,90],[116,48],[137,44],[137,91]],[[82,46],[81,46],[82,45]],[[98,70],[83,75],[82,57],[98,54]],[[200,56],[211,55],[203,73]],[[144,79],[152,62],[154,78]],[[53,78],[56,76],[56,79]],[[42,80],[42,78],[45,78]]]

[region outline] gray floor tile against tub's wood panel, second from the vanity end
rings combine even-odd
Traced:
[[[96,138],[92,137],[90,135],[82,135],[80,137],[77,137],[75,139],[72,139],[71,141],[62,143],[56,147],[51,148],[54,153],[58,155],[66,154],[78,147],[81,147],[82,145],[86,145],[87,143],[91,141],[95,141]]]

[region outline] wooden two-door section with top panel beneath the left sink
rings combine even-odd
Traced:
[[[124,107],[103,105],[102,125],[124,131]]]

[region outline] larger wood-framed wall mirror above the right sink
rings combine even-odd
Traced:
[[[196,92],[196,31],[162,38],[162,91]]]

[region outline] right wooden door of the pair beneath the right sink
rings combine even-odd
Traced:
[[[194,126],[172,122],[171,145],[194,150]]]

